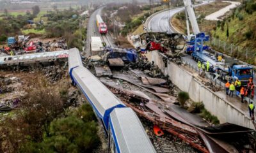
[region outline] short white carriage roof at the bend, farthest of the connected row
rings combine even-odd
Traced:
[[[83,66],[80,52],[77,48],[68,50],[68,71],[77,66]]]

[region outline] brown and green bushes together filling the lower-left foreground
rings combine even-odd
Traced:
[[[68,84],[29,85],[19,110],[0,122],[0,152],[93,152],[100,145],[91,106],[65,110]]]

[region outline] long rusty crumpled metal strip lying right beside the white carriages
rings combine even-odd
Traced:
[[[138,115],[145,117],[145,119],[150,120],[153,124],[156,124],[164,131],[171,133],[174,136],[177,136],[186,143],[189,143],[195,149],[200,150],[201,152],[209,152],[204,145],[204,142],[200,139],[197,131],[186,124],[177,122],[176,120],[171,119],[165,115],[161,110],[154,105],[154,103],[149,102],[149,99],[143,98],[134,92],[129,92],[127,90],[121,89],[120,87],[114,87],[107,82],[103,82],[114,94],[120,95],[120,99],[125,103],[126,106],[131,107]],[[131,103],[128,103],[129,99],[136,98],[140,99],[141,103],[147,103],[145,106],[134,106]],[[150,108],[149,110],[147,108]]]

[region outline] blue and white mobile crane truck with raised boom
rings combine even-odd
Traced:
[[[209,41],[209,36],[200,32],[196,21],[195,11],[191,4],[191,0],[183,0],[185,5],[186,24],[188,31],[187,53],[191,54],[195,61],[204,63],[205,66],[209,62],[212,70],[218,73],[222,80],[234,81],[237,78],[241,80],[242,85],[246,85],[250,77],[253,78],[253,68],[248,65],[239,65],[239,61],[234,58],[225,58],[218,61],[216,55],[213,55],[206,50],[209,47],[204,45],[204,41]],[[189,32],[189,21],[194,34]]]

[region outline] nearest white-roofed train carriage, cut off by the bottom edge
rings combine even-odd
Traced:
[[[156,152],[140,119],[131,108],[116,108],[110,114],[111,132],[119,152]]]

